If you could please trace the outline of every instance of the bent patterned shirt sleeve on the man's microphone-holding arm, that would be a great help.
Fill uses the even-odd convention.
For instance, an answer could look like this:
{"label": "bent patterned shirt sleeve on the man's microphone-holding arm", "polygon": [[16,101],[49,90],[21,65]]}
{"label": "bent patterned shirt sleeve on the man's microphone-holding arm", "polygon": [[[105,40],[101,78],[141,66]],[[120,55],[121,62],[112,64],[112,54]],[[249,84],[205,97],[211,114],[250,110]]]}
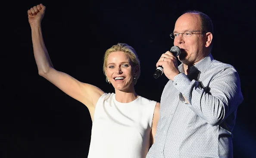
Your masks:
{"label": "bent patterned shirt sleeve on the man's microphone-holding arm", "polygon": [[173,84],[189,101],[186,105],[211,125],[219,125],[243,101],[234,67],[213,75],[205,87],[200,87],[200,82],[194,79],[190,81],[184,73],[175,76]]}

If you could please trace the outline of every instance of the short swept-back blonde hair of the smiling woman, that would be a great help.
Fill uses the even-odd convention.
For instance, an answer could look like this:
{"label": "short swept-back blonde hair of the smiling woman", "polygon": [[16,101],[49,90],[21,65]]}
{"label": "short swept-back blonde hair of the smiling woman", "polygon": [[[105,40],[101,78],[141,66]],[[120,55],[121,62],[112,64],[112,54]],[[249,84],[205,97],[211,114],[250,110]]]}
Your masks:
{"label": "short swept-back blonde hair of the smiling woman", "polygon": [[[117,43],[117,45],[114,45],[111,48],[107,49],[104,54],[104,60],[103,60],[103,73],[105,74],[105,76],[106,76],[107,59],[112,52],[127,53],[131,60],[132,68],[134,68],[136,65],[138,65],[139,70],[138,70],[137,74],[134,76],[136,79],[134,79],[134,82],[133,82],[135,85],[137,83],[137,79],[139,79],[139,77],[140,77],[140,60],[137,56],[136,51],[126,43]],[[106,82],[108,82],[107,76],[106,76]]]}

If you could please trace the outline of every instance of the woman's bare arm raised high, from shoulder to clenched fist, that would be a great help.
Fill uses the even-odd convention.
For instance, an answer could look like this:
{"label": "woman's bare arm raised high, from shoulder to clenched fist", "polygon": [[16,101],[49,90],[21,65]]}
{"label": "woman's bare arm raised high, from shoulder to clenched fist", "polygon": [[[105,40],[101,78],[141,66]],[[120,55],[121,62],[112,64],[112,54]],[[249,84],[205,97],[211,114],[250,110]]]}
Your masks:
{"label": "woman's bare arm raised high, from shoulder to clenched fist", "polygon": [[53,68],[53,64],[44,45],[41,30],[41,21],[44,17],[45,9],[46,6],[40,4],[28,10],[28,22],[31,26],[34,58],[38,73],[69,96],[84,103],[93,118],[97,100],[104,92],[94,85],[79,82],[72,76]]}

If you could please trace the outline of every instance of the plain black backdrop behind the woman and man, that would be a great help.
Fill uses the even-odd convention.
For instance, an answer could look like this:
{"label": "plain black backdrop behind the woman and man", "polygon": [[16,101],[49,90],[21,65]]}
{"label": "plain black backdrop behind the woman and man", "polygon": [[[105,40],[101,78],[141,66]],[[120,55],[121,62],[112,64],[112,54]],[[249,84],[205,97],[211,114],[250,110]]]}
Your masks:
{"label": "plain black backdrop behind the woman and man", "polygon": [[[168,79],[153,78],[156,62],[173,46],[178,16],[199,10],[212,18],[216,60],[240,74],[244,102],[237,110],[234,157],[256,157],[255,3],[243,1],[6,1],[2,13],[1,145],[3,158],[85,158],[91,118],[82,103],[37,73],[27,10],[47,6],[44,41],[54,67],[81,82],[113,92],[103,75],[103,54],[118,42],[133,46],[141,62],[139,95],[160,101]],[[100,151],[99,151],[100,152]]]}

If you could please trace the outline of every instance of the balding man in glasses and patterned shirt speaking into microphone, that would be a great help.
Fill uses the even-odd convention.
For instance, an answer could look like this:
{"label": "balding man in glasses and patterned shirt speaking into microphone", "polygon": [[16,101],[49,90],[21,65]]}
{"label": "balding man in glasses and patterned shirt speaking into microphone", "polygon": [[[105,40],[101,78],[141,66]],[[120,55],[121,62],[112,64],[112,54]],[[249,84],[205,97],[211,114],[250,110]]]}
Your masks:
{"label": "balding man in glasses and patterned shirt speaking into microphone", "polygon": [[202,12],[181,15],[170,35],[181,48],[177,60],[162,54],[170,79],[161,97],[155,143],[147,158],[232,158],[232,130],[244,100],[235,68],[211,55],[213,27]]}

